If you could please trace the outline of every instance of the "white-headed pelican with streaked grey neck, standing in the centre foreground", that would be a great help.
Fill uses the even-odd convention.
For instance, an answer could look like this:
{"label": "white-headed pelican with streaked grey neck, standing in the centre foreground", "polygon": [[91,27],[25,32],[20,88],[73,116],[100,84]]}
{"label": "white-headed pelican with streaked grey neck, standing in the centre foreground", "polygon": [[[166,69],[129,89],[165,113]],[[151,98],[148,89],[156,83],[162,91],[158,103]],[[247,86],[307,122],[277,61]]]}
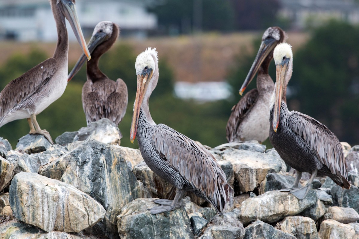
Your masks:
{"label": "white-headed pelican with streaked grey neck, standing in the centre foreground", "polygon": [[219,215],[226,205],[224,172],[211,153],[192,139],[164,124],[155,124],[148,99],[158,81],[158,57],[148,48],[136,59],[137,92],[132,116],[130,139],[136,132],[139,148],[146,164],[160,177],[176,187],[174,200],[156,200],[162,204],[150,209],[152,214],[171,211],[186,191],[194,192],[210,202]]}

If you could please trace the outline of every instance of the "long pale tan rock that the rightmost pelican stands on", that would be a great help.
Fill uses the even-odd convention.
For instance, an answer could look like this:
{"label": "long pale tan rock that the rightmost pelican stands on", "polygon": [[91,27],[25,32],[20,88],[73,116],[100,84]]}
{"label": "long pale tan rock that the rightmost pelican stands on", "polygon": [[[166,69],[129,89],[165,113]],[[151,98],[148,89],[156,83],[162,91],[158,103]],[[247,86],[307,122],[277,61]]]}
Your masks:
{"label": "long pale tan rock that the rightmost pelican stands on", "polygon": [[304,199],[299,200],[288,192],[269,191],[260,196],[242,202],[239,219],[244,225],[251,221],[261,220],[274,223],[286,216],[294,216],[318,201],[314,190],[309,190]]}

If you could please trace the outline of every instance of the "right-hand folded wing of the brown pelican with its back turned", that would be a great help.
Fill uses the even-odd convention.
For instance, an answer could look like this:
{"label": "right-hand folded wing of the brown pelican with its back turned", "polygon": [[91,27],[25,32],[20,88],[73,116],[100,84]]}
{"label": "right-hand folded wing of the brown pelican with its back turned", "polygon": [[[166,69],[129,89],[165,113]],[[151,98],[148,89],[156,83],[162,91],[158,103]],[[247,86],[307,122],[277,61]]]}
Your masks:
{"label": "right-hand folded wing of the brown pelican with its back turned", "polygon": [[116,125],[120,124],[126,113],[128,98],[126,83],[117,79],[116,91],[111,92],[105,102],[106,118]]}

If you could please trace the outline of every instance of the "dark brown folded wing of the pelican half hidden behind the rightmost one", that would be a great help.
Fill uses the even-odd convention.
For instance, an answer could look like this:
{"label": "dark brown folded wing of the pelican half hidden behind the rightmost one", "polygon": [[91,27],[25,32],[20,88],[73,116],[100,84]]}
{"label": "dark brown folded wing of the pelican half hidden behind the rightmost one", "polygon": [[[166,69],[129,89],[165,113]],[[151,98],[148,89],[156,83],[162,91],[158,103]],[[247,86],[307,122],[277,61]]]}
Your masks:
{"label": "dark brown folded wing of the pelican half hidden behind the rightmost one", "polygon": [[252,89],[239,100],[237,105],[232,107],[232,113],[229,116],[226,127],[228,142],[238,138],[238,126],[242,123],[243,119],[246,118],[247,113],[252,109],[253,105],[256,104],[257,100],[258,90]]}

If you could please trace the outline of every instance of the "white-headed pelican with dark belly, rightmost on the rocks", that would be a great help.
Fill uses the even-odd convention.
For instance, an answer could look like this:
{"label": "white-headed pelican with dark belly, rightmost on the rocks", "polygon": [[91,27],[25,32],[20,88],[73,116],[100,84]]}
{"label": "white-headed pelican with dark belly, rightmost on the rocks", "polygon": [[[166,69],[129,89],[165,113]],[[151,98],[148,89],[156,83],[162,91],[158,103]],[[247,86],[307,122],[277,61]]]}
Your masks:
{"label": "white-headed pelican with dark belly, rightmost on the rocks", "polygon": [[305,187],[283,191],[303,199],[317,175],[329,176],[337,185],[349,188],[344,154],[335,134],[312,117],[288,110],[286,87],[293,70],[291,46],[287,43],[276,46],[274,61],[277,77],[270,102],[270,142],[280,157],[297,170],[293,187],[298,187],[302,172],[312,174]]}

